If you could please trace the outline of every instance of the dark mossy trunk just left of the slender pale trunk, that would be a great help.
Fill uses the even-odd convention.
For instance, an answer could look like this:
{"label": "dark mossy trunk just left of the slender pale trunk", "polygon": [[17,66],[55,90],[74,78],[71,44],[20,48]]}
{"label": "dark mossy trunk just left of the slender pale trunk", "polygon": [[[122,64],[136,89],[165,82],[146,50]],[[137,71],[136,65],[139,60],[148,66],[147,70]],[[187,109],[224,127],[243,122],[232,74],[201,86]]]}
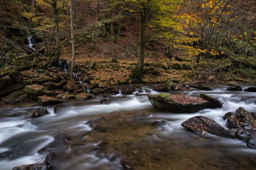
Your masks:
{"label": "dark mossy trunk just left of the slender pale trunk", "polygon": [[[60,45],[60,40],[59,40],[59,26],[58,26],[58,8],[57,8],[57,1],[55,1],[55,3],[52,4],[53,6],[53,15],[54,15],[54,34],[55,34],[55,44],[56,47],[58,47]],[[58,50],[55,53],[55,57],[53,59],[52,64],[53,65],[57,65],[58,64],[58,60],[59,60],[59,56],[60,56],[60,48],[58,48]]]}

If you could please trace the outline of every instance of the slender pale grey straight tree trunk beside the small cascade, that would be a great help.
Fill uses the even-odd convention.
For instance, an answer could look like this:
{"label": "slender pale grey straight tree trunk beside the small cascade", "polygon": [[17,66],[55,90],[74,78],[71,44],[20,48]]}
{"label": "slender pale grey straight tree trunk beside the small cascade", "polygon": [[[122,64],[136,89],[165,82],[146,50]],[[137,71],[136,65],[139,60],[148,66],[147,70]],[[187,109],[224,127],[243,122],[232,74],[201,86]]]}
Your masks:
{"label": "slender pale grey straight tree trunk beside the small cascade", "polygon": [[[70,30],[71,30],[71,39],[74,39],[72,1],[73,0],[70,0]],[[74,68],[75,68],[75,58],[76,58],[75,40],[71,40],[71,45],[72,45],[72,62],[71,62],[71,65],[70,65],[69,77],[73,78],[73,71],[74,71]]]}

